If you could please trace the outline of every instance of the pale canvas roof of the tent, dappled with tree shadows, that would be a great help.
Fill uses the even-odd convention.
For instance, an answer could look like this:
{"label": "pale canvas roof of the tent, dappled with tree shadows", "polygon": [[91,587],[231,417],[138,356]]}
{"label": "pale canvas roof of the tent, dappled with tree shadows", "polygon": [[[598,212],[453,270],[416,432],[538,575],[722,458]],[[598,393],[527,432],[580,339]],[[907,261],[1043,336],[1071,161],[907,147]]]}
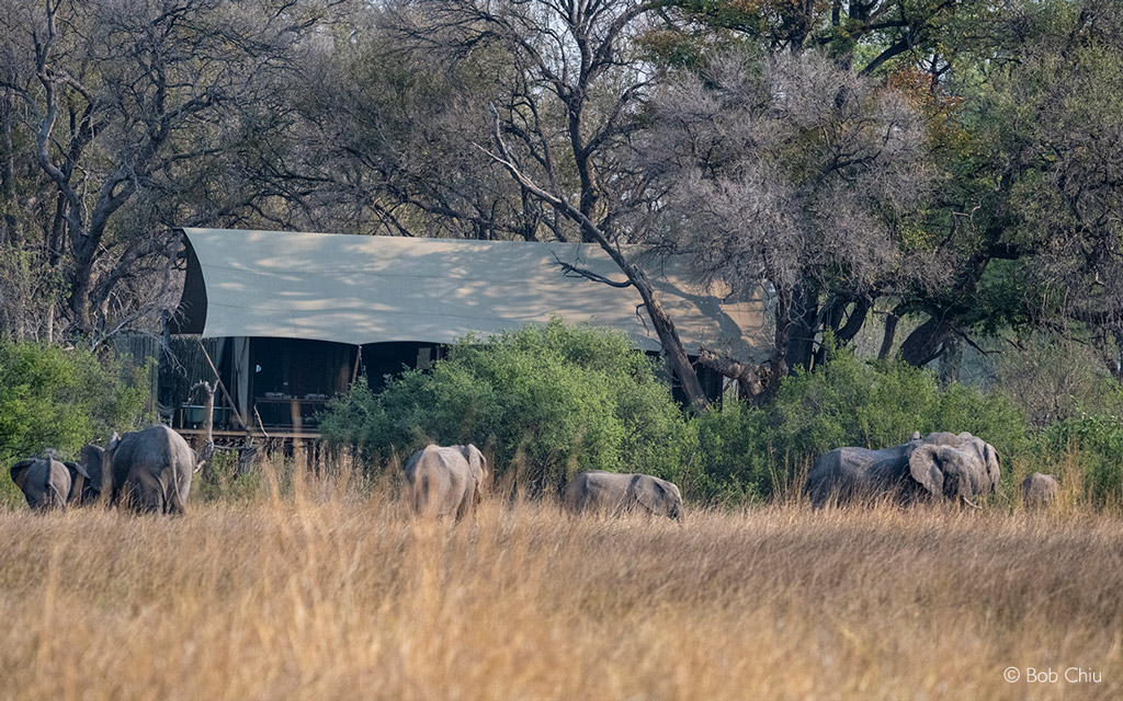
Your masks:
{"label": "pale canvas roof of the tent, dappled with tree shadows", "polygon": [[[560,315],[622,330],[646,350],[660,348],[634,288],[566,277],[557,266],[564,260],[623,280],[588,243],[184,232],[190,246],[174,329],[180,333],[447,343]],[[687,352],[705,344],[746,357],[763,348],[760,299],[705,294],[675,262],[651,259],[645,269]]]}

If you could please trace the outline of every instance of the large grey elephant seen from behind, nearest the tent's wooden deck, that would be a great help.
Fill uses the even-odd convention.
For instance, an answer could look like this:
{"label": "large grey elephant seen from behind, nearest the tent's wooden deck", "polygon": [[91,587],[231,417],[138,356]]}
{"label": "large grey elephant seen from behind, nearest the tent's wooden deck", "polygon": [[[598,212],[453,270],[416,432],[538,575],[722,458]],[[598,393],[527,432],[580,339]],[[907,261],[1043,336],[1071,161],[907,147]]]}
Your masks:
{"label": "large grey elephant seen from behind, nearest the tent's wooden deck", "polygon": [[191,476],[204,463],[183,436],[156,425],[110,439],[101,469],[111,474],[111,505],[124,498],[138,513],[179,515],[184,513]]}

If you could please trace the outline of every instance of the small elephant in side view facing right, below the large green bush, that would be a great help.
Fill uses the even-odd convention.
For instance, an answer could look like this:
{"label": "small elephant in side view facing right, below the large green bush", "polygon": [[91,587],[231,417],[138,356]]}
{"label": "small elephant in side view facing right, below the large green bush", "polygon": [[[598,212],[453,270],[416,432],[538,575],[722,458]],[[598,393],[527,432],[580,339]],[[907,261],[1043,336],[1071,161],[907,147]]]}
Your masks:
{"label": "small elephant in side view facing right, below the large green bush", "polygon": [[650,474],[582,472],[569,480],[563,504],[573,514],[638,511],[683,520],[678,487]]}

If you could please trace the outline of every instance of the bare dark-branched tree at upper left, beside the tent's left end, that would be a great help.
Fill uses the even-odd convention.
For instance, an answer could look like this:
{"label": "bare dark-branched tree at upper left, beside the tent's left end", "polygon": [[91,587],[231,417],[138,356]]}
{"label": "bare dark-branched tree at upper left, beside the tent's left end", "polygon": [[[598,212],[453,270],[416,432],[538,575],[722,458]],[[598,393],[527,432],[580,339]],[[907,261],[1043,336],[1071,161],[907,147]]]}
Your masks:
{"label": "bare dark-branched tree at upper left, beside the tent's left end", "polygon": [[103,335],[153,306],[174,227],[270,194],[238,182],[238,163],[247,137],[279,128],[274,79],[319,4],[4,2],[0,89],[46,184],[39,251],[67,282],[71,332]]}

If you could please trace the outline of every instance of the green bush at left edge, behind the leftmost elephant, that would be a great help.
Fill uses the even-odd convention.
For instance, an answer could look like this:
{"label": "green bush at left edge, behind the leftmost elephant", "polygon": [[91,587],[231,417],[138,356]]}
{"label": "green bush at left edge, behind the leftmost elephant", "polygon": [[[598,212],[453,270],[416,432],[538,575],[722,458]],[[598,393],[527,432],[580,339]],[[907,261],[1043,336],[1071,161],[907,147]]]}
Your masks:
{"label": "green bush at left edge, behind the leftmost elephant", "polygon": [[[144,372],[122,380],[119,362],[88,350],[0,341],[0,464],[46,448],[73,454],[141,423]],[[8,470],[0,472],[0,499],[20,500]]]}

